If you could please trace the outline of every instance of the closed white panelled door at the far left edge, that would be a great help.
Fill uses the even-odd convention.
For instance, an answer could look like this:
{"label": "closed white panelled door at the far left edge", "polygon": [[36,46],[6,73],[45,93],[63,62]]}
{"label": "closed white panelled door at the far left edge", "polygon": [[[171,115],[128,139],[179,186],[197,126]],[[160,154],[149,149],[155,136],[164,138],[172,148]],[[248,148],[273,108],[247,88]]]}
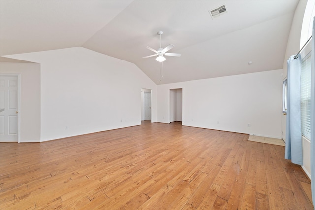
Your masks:
{"label": "closed white panelled door at the far left edge", "polygon": [[18,76],[0,78],[0,141],[18,141]]}

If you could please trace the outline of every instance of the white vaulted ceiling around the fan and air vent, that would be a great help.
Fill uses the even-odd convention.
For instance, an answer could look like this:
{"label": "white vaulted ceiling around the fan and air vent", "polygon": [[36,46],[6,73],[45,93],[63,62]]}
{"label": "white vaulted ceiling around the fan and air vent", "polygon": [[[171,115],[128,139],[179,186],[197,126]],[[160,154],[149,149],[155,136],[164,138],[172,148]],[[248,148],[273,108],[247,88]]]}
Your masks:
{"label": "white vaulted ceiling around the fan and air vent", "polygon": [[[212,19],[209,10],[225,4]],[[85,47],[137,65],[156,84],[283,67],[298,0],[1,0],[5,57]],[[174,44],[161,63],[146,46]],[[252,61],[249,65],[248,62]],[[163,68],[162,68],[163,67]],[[163,75],[163,77],[161,77]]]}

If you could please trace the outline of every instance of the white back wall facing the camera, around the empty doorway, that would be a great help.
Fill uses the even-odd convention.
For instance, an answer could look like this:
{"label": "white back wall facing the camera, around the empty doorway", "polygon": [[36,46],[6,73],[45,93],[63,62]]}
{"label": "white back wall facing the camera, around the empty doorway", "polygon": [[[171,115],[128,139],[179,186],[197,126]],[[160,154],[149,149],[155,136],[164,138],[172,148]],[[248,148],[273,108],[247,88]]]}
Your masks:
{"label": "white back wall facing the camera, around the empty doorway", "polygon": [[158,85],[158,122],[170,122],[169,90],[183,88],[183,125],[281,138],[282,71]]}

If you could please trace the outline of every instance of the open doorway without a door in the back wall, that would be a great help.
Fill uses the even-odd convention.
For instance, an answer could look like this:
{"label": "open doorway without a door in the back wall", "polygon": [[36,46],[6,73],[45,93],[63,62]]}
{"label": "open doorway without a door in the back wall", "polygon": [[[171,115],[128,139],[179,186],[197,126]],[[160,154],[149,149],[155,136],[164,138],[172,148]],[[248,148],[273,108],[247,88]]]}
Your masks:
{"label": "open doorway without a door in the back wall", "polygon": [[183,89],[170,89],[170,123],[182,122],[183,115]]}

